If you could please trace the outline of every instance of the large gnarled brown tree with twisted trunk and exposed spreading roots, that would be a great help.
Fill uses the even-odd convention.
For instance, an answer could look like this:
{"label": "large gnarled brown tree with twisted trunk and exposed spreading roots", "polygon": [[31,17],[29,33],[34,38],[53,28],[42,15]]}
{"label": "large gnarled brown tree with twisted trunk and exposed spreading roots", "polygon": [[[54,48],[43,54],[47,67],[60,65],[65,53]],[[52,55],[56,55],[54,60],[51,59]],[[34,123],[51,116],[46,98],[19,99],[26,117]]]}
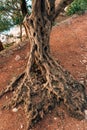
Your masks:
{"label": "large gnarled brown tree with twisted trunk and exposed spreading roots", "polygon": [[0,93],[2,97],[14,91],[11,101],[3,108],[14,108],[23,103],[27,128],[61,101],[71,115],[84,118],[87,107],[85,87],[62,68],[50,52],[50,32],[55,14],[61,12],[67,1],[60,1],[56,13],[55,0],[32,0],[32,13],[24,20],[31,45],[27,67]]}

